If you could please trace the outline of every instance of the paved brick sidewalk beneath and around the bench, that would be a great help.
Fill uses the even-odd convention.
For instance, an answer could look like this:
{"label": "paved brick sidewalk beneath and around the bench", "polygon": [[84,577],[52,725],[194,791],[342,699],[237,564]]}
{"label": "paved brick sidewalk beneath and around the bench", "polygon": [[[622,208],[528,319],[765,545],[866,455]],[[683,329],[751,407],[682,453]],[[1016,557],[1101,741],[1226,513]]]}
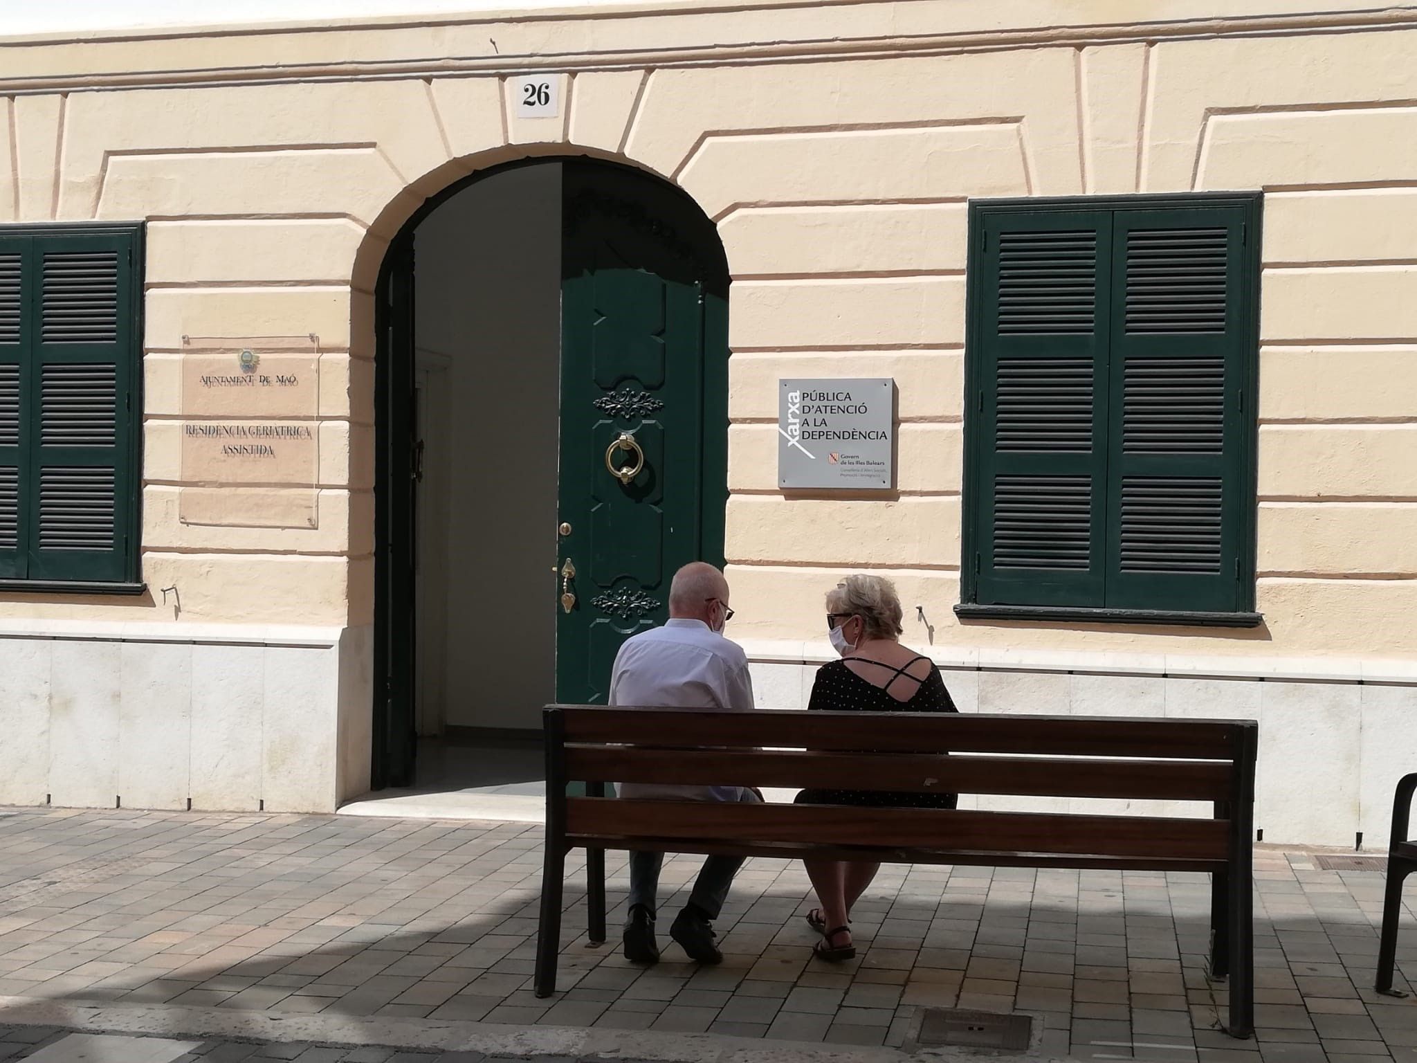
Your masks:
{"label": "paved brick sidewalk beneath and around the bench", "polygon": [[[859,958],[829,968],[809,958],[801,866],[751,860],[717,924],[723,967],[689,964],[662,933],[665,961],[640,969],[615,934],[588,947],[572,867],[561,992],[541,1001],[540,842],[526,823],[14,809],[0,996],[863,1046],[898,1046],[917,1008],[958,1005],[1041,1016],[1050,1056],[1417,1063],[1417,999],[1370,989],[1383,877],[1305,853],[1257,855],[1258,1036],[1237,1042],[1202,969],[1199,874],[887,866],[859,906]],[[606,862],[616,927],[623,856]],[[663,889],[696,869],[667,862]],[[1401,961],[1417,975],[1411,906]]]}

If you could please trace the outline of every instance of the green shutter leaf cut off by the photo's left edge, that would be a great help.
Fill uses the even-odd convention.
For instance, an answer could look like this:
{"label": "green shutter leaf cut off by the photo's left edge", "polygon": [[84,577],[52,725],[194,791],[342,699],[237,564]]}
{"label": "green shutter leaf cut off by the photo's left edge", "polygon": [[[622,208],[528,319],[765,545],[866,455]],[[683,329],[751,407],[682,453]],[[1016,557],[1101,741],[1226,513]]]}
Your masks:
{"label": "green shutter leaf cut off by the photo's left edge", "polygon": [[24,575],[20,479],[24,469],[21,370],[28,240],[0,237],[0,580]]}

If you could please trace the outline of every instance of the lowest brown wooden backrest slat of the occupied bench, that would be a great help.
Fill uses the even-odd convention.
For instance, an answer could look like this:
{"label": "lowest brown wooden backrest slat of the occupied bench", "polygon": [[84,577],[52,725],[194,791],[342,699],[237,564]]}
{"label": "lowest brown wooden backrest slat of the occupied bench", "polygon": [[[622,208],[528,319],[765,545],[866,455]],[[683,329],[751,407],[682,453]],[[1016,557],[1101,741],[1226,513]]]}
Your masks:
{"label": "lowest brown wooden backrest slat of the occupied bench", "polygon": [[565,802],[565,833],[575,839],[683,838],[744,845],[830,839],[833,845],[847,846],[1223,860],[1229,826],[1221,819],[1049,812],[622,798],[568,798]]}

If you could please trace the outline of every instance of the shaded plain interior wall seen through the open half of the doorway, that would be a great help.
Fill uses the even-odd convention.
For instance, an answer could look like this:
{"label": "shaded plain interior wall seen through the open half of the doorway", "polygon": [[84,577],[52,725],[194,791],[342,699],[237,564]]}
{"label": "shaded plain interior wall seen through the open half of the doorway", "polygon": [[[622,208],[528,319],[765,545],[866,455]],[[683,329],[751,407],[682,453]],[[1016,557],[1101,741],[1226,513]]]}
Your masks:
{"label": "shaded plain interior wall seen through the open half of the doorway", "polygon": [[561,166],[492,173],[414,234],[418,727],[540,730],[555,700]]}

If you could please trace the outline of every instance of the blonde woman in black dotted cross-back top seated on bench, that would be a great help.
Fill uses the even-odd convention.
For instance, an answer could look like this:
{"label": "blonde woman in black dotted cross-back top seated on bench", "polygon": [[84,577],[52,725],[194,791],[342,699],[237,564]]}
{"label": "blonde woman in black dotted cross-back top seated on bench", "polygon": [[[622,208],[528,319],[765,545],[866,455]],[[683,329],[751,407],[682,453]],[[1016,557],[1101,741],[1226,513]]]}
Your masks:
{"label": "blonde woman in black dotted cross-back top seated on bench", "polygon": [[[826,626],[840,660],[822,665],[808,709],[863,713],[954,713],[945,680],[930,658],[900,645],[900,598],[890,580],[849,575],[826,595]],[[883,723],[883,726],[890,726]],[[954,808],[955,794],[803,789],[798,804],[877,808]],[[806,921],[822,934],[813,954],[829,962],[856,955],[852,904],[871,884],[879,863],[806,860],[819,909]]]}

